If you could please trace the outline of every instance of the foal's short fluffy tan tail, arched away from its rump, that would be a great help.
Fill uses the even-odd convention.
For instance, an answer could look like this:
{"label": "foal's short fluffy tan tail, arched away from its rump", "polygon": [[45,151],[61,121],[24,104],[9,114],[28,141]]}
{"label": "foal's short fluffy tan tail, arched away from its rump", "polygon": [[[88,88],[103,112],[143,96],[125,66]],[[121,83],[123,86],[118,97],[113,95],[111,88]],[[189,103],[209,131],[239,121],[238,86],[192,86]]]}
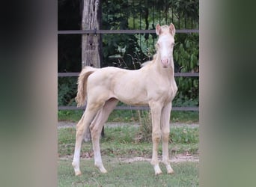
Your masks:
{"label": "foal's short fluffy tan tail, arched away from its rump", "polygon": [[76,94],[76,103],[77,106],[82,106],[85,105],[85,99],[87,96],[87,79],[88,76],[91,75],[91,73],[94,73],[97,69],[93,67],[85,67],[81,73],[79,74],[79,79],[78,79],[78,87],[77,87],[77,94]]}

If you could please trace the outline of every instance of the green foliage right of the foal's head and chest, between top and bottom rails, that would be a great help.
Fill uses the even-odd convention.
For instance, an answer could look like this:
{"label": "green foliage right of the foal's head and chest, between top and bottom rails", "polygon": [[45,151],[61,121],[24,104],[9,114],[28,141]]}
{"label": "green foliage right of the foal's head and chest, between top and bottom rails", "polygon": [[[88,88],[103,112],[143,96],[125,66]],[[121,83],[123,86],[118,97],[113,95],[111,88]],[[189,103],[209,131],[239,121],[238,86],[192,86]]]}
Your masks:
{"label": "green foliage right of the foal's head and chest, between top and bottom rails", "polygon": [[[198,34],[180,34],[174,47],[174,63],[180,72],[199,72],[199,36]],[[198,77],[177,77],[177,96],[174,106],[199,105]]]}

